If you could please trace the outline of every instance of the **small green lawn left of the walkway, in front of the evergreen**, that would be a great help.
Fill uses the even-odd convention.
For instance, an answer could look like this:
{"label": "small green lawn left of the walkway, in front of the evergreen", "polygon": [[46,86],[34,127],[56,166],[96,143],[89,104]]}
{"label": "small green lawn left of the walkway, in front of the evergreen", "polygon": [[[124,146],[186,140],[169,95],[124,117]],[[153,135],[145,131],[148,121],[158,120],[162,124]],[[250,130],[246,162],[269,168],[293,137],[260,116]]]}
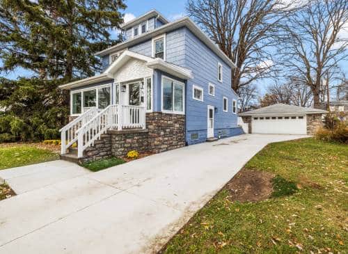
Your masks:
{"label": "small green lawn left of the walkway, in front of the evergreen", "polygon": [[0,147],[0,170],[14,168],[29,164],[37,164],[44,161],[59,159],[55,152],[35,148],[32,145],[15,145]]}

